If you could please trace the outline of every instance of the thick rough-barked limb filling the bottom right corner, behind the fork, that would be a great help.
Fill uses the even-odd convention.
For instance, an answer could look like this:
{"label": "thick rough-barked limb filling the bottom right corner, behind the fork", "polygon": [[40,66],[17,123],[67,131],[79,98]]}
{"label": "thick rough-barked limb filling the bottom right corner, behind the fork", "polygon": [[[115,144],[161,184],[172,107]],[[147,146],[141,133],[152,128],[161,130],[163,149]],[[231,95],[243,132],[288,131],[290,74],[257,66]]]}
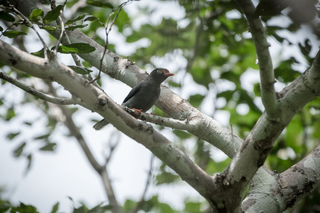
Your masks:
{"label": "thick rough-barked limb filling the bottom right corner, behind the fork", "polygon": [[[320,145],[288,170],[255,175],[242,203],[244,212],[283,212],[309,194],[320,182]],[[257,184],[258,183],[258,184]],[[259,184],[260,183],[260,184]],[[263,184],[264,187],[261,187]]]}

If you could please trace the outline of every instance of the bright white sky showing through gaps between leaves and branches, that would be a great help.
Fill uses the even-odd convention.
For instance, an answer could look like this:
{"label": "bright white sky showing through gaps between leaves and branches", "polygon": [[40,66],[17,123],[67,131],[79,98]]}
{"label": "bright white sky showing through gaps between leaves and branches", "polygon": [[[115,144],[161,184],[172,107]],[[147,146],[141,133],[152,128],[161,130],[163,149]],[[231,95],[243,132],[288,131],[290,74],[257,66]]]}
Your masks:
{"label": "bright white sky showing through gaps between leaves and branches", "polygon": [[[155,10],[152,14],[152,19],[146,15],[141,15],[138,12],[138,7],[149,6],[150,10]],[[158,24],[162,17],[177,19],[180,25],[185,25],[188,20],[183,19],[185,11],[174,1],[158,1],[158,0],[141,0],[132,1],[131,4],[126,5],[124,10],[131,16],[136,17],[133,22],[133,28],[137,29],[145,22],[152,21],[153,24]],[[121,14],[120,14],[121,15]],[[230,18],[236,18],[236,12],[230,13]],[[234,16],[234,17],[233,17]],[[276,21],[276,20],[275,20]],[[300,42],[304,42],[303,32],[306,28],[301,30],[301,36],[296,37]],[[308,29],[307,29],[308,30]],[[46,42],[49,41],[47,34],[40,30]],[[285,36],[285,32],[282,33]],[[5,42],[11,42],[9,39],[1,37]],[[42,48],[41,43],[38,41],[35,34],[31,31],[27,37],[27,49],[30,52],[35,52]],[[149,45],[148,39],[141,39],[134,44],[128,45],[125,43],[125,38],[116,32],[116,27],[109,35],[110,43],[116,45],[116,51],[121,55],[130,55],[137,47]],[[316,38],[310,38],[312,42],[316,42]],[[279,54],[285,57],[290,57],[292,53],[297,52],[296,46],[284,47],[272,38],[269,38],[271,43],[270,52],[276,62],[276,57]],[[283,48],[283,49],[282,49]],[[316,50],[312,50],[315,54]],[[73,65],[74,62],[70,57],[59,54],[60,60],[67,64]],[[174,54],[168,53],[163,58],[152,57],[152,62],[158,67],[166,67],[171,72],[175,73],[175,81],[183,81],[188,87],[181,89],[172,88],[174,92],[181,97],[187,98],[189,95],[202,94],[206,95],[204,102],[201,104],[200,109],[204,113],[212,116],[213,104],[224,105],[225,100],[215,100],[216,89],[227,90],[234,87],[232,82],[227,80],[218,81],[217,85],[210,85],[209,91],[204,87],[194,83],[192,77],[184,72],[177,72],[181,67],[187,65],[187,60],[182,56],[181,50],[175,50]],[[299,58],[303,62],[303,58]],[[165,66],[164,66],[165,65]],[[148,67],[148,65],[147,65]],[[149,66],[150,67],[150,66]],[[300,71],[304,71],[306,64],[304,63],[299,67]],[[4,70],[5,71],[5,70]],[[147,70],[148,72],[151,71]],[[212,76],[216,73],[212,71]],[[250,76],[250,78],[248,78]],[[254,83],[259,82],[259,72],[257,70],[249,69],[241,77],[243,80],[243,87],[246,90],[252,91]],[[122,103],[123,98],[130,91],[130,87],[120,81],[109,78],[108,76],[102,77],[103,86],[107,94],[117,103]],[[164,83],[166,84],[166,83]],[[276,90],[280,91],[284,87],[281,83],[276,83]],[[117,89],[115,89],[117,88]],[[196,88],[196,90],[194,89]],[[59,95],[67,94],[63,89],[59,89]],[[0,85],[0,94],[5,96],[5,106],[15,105],[19,103],[23,97],[24,92],[19,88],[6,83]],[[214,103],[215,102],[215,103]],[[257,98],[255,103],[263,109],[261,100]],[[241,105],[237,109],[241,113],[245,113],[247,106]],[[96,174],[92,166],[88,163],[86,157],[77,141],[72,137],[66,137],[68,134],[66,127],[59,124],[52,136],[52,142],[56,142],[58,147],[54,153],[44,153],[37,151],[41,147],[39,141],[32,141],[35,135],[42,135],[45,133],[46,115],[35,107],[32,103],[24,104],[22,106],[15,105],[16,117],[12,118],[10,122],[3,122],[0,120],[0,186],[5,186],[5,197],[10,198],[14,203],[19,201],[26,204],[33,204],[40,212],[49,212],[56,202],[60,202],[59,212],[69,212],[72,208],[72,203],[67,198],[70,196],[74,201],[84,201],[89,207],[93,207],[100,202],[106,201],[105,191],[103,189],[100,176]],[[5,114],[5,108],[0,106],[0,114]],[[224,126],[229,126],[229,113],[218,110],[215,113],[215,119]],[[94,156],[103,163],[104,150],[106,150],[106,142],[108,137],[113,131],[116,131],[112,125],[107,126],[103,131],[94,131],[92,129],[92,118],[100,119],[98,114],[93,114],[89,110],[79,109],[74,114],[74,121],[81,128],[84,138],[87,140]],[[26,126],[22,123],[24,121],[36,121],[33,126]],[[21,130],[14,141],[6,138],[8,133]],[[175,142],[178,139],[171,133],[171,129],[165,129],[163,133],[169,140]],[[28,141],[27,149],[33,153],[32,168],[27,175],[24,175],[27,161],[25,158],[15,158],[12,155],[14,148],[18,146],[21,141]],[[194,141],[185,141],[188,148],[194,147]],[[211,148],[211,155],[214,160],[221,161],[226,156],[217,148]],[[128,138],[126,135],[121,134],[121,142],[117,146],[115,153],[108,165],[108,172],[112,180],[115,190],[116,198],[121,205],[124,204],[126,199],[139,200],[144,189],[147,178],[149,162],[151,153],[148,149],[138,144],[136,141]],[[155,165],[159,165],[160,161],[156,160]],[[151,185],[147,198],[152,195],[158,194],[159,200],[166,202],[175,209],[183,209],[183,200],[186,197],[191,200],[203,200],[201,196],[185,182],[180,181],[178,185]]]}

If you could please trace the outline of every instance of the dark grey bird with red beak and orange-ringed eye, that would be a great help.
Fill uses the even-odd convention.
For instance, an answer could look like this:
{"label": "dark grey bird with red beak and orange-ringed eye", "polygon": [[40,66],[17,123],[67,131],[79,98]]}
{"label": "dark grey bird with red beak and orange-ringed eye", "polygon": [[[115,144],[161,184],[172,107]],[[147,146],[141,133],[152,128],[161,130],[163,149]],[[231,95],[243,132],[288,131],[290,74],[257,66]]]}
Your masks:
{"label": "dark grey bird with red beak and orange-ringed eye", "polygon": [[[148,111],[160,97],[161,83],[173,75],[172,72],[162,67],[154,69],[144,80],[131,89],[121,105],[139,111],[139,113]],[[101,130],[108,124],[108,121],[102,119],[93,128]]]}

